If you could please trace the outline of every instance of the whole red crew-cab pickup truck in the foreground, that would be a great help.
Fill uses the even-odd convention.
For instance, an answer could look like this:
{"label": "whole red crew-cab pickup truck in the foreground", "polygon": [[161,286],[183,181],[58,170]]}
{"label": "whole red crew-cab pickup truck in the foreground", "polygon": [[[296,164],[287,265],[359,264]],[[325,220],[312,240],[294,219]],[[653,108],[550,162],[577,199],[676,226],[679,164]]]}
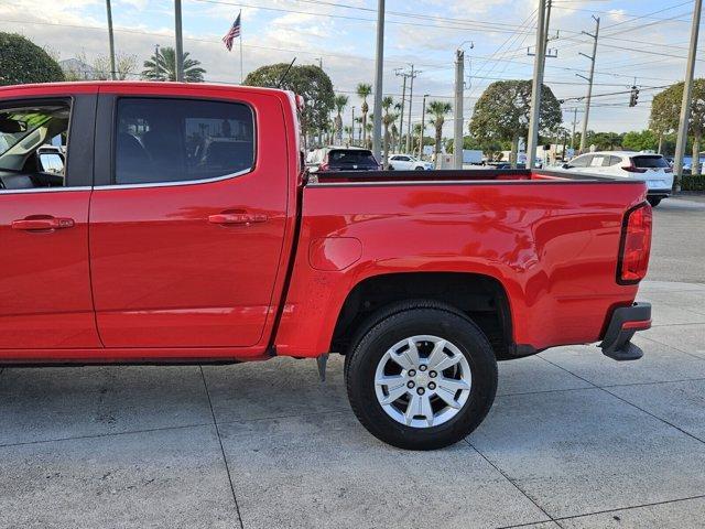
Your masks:
{"label": "whole red crew-cab pickup truck in the foreground", "polygon": [[0,363],[345,355],[352,410],[405,449],[487,414],[497,360],[650,326],[643,182],[303,169],[292,94],[0,89]]}

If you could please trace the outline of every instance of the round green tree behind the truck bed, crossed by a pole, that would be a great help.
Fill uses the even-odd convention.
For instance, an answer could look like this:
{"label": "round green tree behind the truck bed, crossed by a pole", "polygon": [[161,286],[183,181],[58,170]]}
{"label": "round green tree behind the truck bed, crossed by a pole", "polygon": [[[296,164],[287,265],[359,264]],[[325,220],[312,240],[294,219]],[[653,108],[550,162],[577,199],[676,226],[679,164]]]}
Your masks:
{"label": "round green tree behind the truck bed, crossed by a pole", "polygon": [[[517,166],[519,139],[529,136],[531,80],[497,80],[489,85],[475,104],[470,134],[481,144],[511,142],[510,161]],[[561,104],[547,86],[541,87],[539,133],[549,133],[563,121]],[[529,153],[534,155],[534,153]]]}

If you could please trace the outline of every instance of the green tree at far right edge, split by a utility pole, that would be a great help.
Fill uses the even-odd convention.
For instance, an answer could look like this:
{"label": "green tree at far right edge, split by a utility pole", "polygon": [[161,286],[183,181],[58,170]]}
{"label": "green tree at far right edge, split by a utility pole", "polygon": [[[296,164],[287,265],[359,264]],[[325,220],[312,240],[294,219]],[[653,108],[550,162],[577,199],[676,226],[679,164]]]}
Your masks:
{"label": "green tree at far right edge, split by a utility pole", "polygon": [[[660,138],[677,131],[681,119],[681,101],[683,100],[683,83],[671,85],[653,96],[649,128]],[[705,130],[705,79],[693,80],[691,99],[691,120],[688,132],[693,134],[693,162],[691,171],[699,173],[699,152],[703,131]]]}

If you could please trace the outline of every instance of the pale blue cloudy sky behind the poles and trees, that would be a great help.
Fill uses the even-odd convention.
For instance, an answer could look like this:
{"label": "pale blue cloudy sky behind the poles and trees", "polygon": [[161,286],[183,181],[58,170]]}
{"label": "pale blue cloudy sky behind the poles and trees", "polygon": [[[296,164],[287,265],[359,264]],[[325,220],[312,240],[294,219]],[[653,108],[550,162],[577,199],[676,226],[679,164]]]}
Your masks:
{"label": "pale blue cloudy sky behind the poles and trees", "polygon": [[[200,61],[207,82],[240,82],[239,42],[228,52],[220,41],[242,12],[245,75],[271,63],[323,64],[336,93],[350,96],[344,122],[361,101],[355,87],[372,84],[377,2],[375,0],[183,0],[184,50]],[[427,100],[453,102],[455,51],[465,50],[464,121],[482,90],[497,79],[529,79],[533,72],[538,0],[387,0],[383,93],[401,99],[402,77],[419,72],[411,118],[421,121]],[[553,0],[544,83],[563,104],[564,126],[582,128],[593,39],[600,19],[589,129],[625,132],[648,127],[650,100],[659,87],[682,80],[693,1]],[[156,44],[174,45],[172,0],[112,0],[118,53],[147,60]],[[2,0],[0,31],[21,33],[61,60],[108,54],[105,0]],[[702,41],[701,41],[702,42]],[[140,67],[141,69],[141,67]],[[705,75],[705,55],[695,75]],[[640,88],[628,107],[629,90]],[[406,104],[406,112],[408,106]],[[404,119],[404,121],[406,121]],[[444,133],[452,133],[448,120]],[[467,130],[467,128],[465,129]]]}

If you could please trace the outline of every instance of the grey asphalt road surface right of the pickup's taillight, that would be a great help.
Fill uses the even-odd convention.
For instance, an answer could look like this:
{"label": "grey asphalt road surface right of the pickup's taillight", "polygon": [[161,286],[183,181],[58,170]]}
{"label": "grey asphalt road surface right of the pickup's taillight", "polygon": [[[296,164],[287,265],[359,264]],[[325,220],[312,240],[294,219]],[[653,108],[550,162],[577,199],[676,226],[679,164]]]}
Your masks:
{"label": "grey asphalt road surface right of the pickup's taillight", "polygon": [[705,196],[668,198],[653,209],[647,279],[705,282]]}

